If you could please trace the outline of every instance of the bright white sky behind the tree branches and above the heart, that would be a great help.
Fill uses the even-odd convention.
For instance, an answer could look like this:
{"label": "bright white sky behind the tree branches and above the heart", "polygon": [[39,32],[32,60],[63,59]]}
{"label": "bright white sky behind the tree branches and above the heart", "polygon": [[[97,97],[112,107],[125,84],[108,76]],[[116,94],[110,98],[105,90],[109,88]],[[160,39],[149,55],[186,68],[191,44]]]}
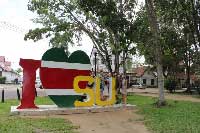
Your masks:
{"label": "bright white sky behind the tree branches and above the heart", "polygon": [[[7,61],[11,61],[14,70],[20,67],[20,58],[40,60],[43,53],[50,48],[46,39],[38,42],[24,41],[25,33],[38,27],[31,21],[36,14],[28,11],[28,1],[0,0],[0,56],[5,56]],[[5,26],[5,22],[9,26]],[[15,25],[17,30],[10,28],[12,25]],[[69,51],[72,53],[75,50],[83,50],[90,55],[93,47],[91,40],[84,36],[82,44],[70,47]]]}

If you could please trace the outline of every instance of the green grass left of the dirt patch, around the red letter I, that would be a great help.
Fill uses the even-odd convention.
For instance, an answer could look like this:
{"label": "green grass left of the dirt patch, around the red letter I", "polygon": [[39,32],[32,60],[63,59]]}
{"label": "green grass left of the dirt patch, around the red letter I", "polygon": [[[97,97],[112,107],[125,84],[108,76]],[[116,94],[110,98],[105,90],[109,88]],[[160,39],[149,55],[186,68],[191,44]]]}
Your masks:
{"label": "green grass left of the dirt patch, around the red letter I", "polygon": [[[11,116],[11,105],[18,105],[17,100],[0,103],[0,133],[73,133],[77,127],[61,118],[22,118]],[[37,97],[36,104],[53,104],[49,98]]]}

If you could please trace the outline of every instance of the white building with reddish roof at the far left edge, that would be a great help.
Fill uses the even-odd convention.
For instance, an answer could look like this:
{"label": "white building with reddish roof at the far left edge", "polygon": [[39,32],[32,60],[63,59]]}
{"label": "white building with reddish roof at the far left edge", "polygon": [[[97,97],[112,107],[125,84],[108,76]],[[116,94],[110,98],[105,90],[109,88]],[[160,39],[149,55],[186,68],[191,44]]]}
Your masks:
{"label": "white building with reddish roof at the far left edge", "polygon": [[14,83],[20,76],[11,68],[11,62],[5,60],[5,56],[0,56],[0,77],[6,77],[6,83]]}

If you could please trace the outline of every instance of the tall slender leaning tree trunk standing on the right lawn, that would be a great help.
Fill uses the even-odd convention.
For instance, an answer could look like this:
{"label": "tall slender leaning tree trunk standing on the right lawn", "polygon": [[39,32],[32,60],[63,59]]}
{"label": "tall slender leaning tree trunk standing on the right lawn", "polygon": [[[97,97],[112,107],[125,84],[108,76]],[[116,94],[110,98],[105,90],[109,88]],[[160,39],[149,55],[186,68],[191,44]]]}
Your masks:
{"label": "tall slender leaning tree trunk standing on the right lawn", "polygon": [[154,45],[155,47],[155,58],[157,66],[157,76],[158,76],[158,88],[159,88],[159,99],[158,106],[165,105],[164,97],[164,76],[163,76],[163,66],[162,66],[162,48],[159,44],[159,27],[156,17],[156,12],[153,5],[153,0],[145,0],[147,16],[150,23],[150,28],[154,36]]}

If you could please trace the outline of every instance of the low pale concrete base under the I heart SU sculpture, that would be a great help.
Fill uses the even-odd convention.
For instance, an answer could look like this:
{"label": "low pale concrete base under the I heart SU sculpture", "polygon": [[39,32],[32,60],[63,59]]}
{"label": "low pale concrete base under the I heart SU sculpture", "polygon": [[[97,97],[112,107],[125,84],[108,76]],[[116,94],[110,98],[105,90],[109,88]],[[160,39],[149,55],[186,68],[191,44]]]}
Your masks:
{"label": "low pale concrete base under the I heart SU sculpture", "polygon": [[[126,105],[127,110],[134,109],[136,105]],[[76,108],[59,108],[56,105],[39,105],[39,109],[17,109],[17,106],[11,106],[12,115],[35,116],[35,115],[69,115],[113,112],[124,109],[124,105],[116,104],[113,106],[93,106],[93,107],[76,107]]]}

